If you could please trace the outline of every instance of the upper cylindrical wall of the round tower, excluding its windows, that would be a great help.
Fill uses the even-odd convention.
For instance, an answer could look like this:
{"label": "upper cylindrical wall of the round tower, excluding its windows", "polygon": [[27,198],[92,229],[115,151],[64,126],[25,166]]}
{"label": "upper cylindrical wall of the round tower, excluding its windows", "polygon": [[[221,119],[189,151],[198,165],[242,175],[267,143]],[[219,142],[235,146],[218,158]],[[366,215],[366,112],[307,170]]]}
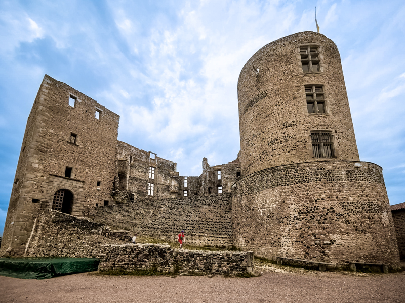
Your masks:
{"label": "upper cylindrical wall of the round tower, excluding its windows", "polygon": [[[300,46],[317,47],[318,62],[313,62],[319,72],[303,72]],[[305,86],[311,84],[323,86],[326,113],[308,113]],[[240,72],[238,105],[244,176],[319,161],[312,153],[314,130],[331,132],[334,156],[329,160],[359,160],[339,51],[321,34],[297,33],[256,52]]]}

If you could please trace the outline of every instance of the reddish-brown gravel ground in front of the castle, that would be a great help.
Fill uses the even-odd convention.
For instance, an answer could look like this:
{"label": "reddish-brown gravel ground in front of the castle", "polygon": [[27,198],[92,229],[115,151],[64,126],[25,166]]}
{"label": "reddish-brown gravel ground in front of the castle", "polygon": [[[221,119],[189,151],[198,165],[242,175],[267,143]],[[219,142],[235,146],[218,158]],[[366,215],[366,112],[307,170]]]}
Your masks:
{"label": "reddish-brown gravel ground in front of the castle", "polygon": [[308,271],[255,262],[263,275],[106,276],[47,280],[0,276],[0,302],[405,302],[405,272],[364,274]]}

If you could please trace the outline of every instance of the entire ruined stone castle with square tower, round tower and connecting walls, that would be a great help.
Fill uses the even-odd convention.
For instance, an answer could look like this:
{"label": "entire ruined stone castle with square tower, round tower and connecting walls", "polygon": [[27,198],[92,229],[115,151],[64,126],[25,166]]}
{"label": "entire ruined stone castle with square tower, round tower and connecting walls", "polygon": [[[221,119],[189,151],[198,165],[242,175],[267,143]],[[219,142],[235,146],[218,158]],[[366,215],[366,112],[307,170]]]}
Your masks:
{"label": "entire ruined stone castle with square tower, round tower and connecting walls", "polygon": [[[45,76],[29,115],[2,251],[19,255],[41,208],[255,255],[398,267],[382,168],[359,160],[340,55],[322,34],[265,45],[237,84],[240,153],[200,176],[117,141],[119,117]],[[230,160],[235,157],[230,155]],[[179,212],[181,216],[179,216]],[[61,228],[63,230],[63,228]]]}

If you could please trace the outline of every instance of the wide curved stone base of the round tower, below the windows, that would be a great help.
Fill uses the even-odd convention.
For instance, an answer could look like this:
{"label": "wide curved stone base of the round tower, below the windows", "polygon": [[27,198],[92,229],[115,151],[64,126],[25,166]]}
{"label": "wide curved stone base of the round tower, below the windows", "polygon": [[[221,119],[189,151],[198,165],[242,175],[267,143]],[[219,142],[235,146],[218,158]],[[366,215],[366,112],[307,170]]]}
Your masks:
{"label": "wide curved stone base of the round tower, below the windows", "polygon": [[259,171],[232,189],[234,242],[267,258],[399,266],[381,167],[352,161]]}

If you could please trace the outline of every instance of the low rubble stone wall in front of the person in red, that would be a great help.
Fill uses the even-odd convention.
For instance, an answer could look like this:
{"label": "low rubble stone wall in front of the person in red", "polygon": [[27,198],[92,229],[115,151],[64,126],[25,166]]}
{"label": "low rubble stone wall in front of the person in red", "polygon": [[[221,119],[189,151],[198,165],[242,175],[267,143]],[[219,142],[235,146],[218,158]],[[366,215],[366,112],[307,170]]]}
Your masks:
{"label": "low rubble stone wall in front of the person in red", "polygon": [[244,275],[254,273],[253,252],[172,249],[157,244],[106,244],[99,271],[140,274]]}

